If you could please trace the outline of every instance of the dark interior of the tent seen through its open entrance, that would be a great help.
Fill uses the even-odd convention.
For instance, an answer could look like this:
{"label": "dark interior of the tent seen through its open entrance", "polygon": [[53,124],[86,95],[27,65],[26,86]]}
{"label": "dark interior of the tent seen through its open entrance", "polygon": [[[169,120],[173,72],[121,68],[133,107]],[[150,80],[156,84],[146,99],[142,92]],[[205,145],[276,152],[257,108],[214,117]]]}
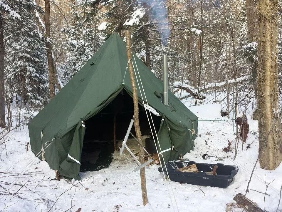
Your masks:
{"label": "dark interior of the tent seen through its open entrance", "polygon": [[[98,114],[85,121],[86,129],[81,154],[80,171],[96,171],[110,165],[114,152],[114,122],[116,140],[123,140],[132,116],[133,98],[125,90],[122,90],[109,105],[103,108]],[[152,118],[156,131],[158,132],[162,117],[152,114]],[[146,111],[140,104],[139,124],[142,135],[151,135],[151,138],[146,139],[146,148],[150,148],[149,153],[154,152],[155,144],[153,142]],[[131,132],[135,135],[134,125],[132,126]],[[132,135],[130,135],[129,138],[133,138]]]}

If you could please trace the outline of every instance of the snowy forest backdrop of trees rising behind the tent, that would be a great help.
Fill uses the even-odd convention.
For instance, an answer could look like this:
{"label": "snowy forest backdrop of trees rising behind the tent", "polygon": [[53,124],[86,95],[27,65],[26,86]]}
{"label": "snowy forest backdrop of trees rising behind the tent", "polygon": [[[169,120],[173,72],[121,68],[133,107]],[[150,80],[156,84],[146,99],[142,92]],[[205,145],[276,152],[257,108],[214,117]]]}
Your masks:
{"label": "snowy forest backdrop of trees rising behind the tent", "polygon": [[[256,1],[251,0],[50,1],[49,36],[44,1],[1,1],[5,101],[40,108],[50,100],[46,43],[52,48],[50,63],[54,64],[58,92],[113,32],[124,37],[129,22],[133,52],[160,79],[161,56],[169,56],[170,86],[185,82],[201,90],[207,84],[247,77],[244,81],[254,87],[258,56],[255,7]],[[279,10],[278,15],[279,63]]]}

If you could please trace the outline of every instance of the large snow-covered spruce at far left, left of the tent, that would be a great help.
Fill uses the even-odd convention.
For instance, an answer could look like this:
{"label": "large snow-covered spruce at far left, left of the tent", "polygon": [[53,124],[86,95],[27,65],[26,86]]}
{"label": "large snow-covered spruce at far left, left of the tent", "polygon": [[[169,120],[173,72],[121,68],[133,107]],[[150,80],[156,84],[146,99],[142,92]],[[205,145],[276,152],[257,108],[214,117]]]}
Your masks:
{"label": "large snow-covered spruce at far left, left of the tent", "polygon": [[47,59],[44,37],[35,20],[33,0],[9,1],[20,19],[5,25],[5,74],[9,100],[20,97],[24,104],[40,107],[48,99]]}

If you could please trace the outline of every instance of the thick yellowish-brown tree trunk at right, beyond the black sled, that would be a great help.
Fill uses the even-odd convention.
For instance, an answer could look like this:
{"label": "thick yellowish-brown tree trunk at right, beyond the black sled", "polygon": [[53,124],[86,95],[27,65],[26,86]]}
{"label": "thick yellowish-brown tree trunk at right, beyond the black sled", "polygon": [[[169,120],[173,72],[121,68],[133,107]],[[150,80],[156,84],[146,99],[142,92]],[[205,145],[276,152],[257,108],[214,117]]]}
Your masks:
{"label": "thick yellowish-brown tree trunk at right, beyond the black sled", "polygon": [[279,111],[277,66],[277,0],[259,0],[259,63],[257,100],[259,109],[259,163],[273,170],[282,160],[282,127]]}

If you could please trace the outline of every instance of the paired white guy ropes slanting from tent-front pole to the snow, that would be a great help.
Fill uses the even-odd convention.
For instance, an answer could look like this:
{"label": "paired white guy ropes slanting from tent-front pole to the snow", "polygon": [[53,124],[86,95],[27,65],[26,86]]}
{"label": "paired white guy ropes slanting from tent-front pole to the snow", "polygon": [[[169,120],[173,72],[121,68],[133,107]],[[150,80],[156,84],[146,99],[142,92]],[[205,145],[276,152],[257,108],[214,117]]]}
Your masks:
{"label": "paired white guy ropes slanting from tent-front pole to the snow", "polygon": [[[145,94],[145,90],[144,90],[144,87],[143,87],[143,83],[142,83],[142,80],[141,80],[141,77],[140,77],[140,73],[139,73],[139,70],[138,70],[138,67],[137,67],[137,63],[136,63],[134,54],[133,54],[133,58],[134,58],[134,61],[135,61],[135,66],[136,66],[137,73],[138,73],[138,76],[139,76],[139,79],[140,79],[140,84],[141,84],[141,87],[142,87],[142,91],[143,91],[143,93],[144,93],[145,100],[146,100],[146,102],[147,102],[147,105],[149,105],[149,103],[148,103],[148,101],[147,101],[147,97],[146,97],[146,94]],[[132,62],[132,65],[133,65],[133,62]],[[142,95],[142,92],[141,92],[139,80],[138,80],[138,77],[137,77],[137,74],[136,74],[134,65],[133,65],[133,69],[134,69],[134,73],[135,73],[135,76],[136,76],[137,84],[138,84],[138,87],[139,87],[139,90],[140,90],[142,102],[143,102],[143,104],[145,104],[144,98],[143,98],[143,95]],[[149,122],[150,130],[151,130],[151,132],[153,132],[146,107],[145,107],[145,112],[146,112],[147,119],[148,119],[148,122]],[[159,138],[158,138],[158,136],[157,136],[157,130],[156,130],[156,128],[155,128],[155,124],[154,124],[154,121],[153,121],[152,114],[151,114],[151,111],[150,111],[150,110],[149,110],[149,114],[150,114],[150,117],[151,117],[151,120],[152,120],[152,125],[153,125],[154,131],[155,131],[155,135],[156,135],[157,142],[158,142],[158,145],[159,145],[159,148],[160,148],[160,152],[162,152],[162,149],[161,149],[161,146],[160,146],[160,141],[159,141]],[[155,141],[154,136],[153,136],[153,140],[154,140],[154,143],[155,143],[155,147],[156,147],[156,149],[157,149],[157,144],[156,144],[156,141]],[[167,183],[166,177],[165,177],[165,175],[164,175],[164,168],[163,168],[163,165],[162,165],[162,162],[161,162],[161,158],[160,158],[160,154],[158,153],[158,151],[157,151],[157,155],[158,155],[158,158],[159,158],[160,163],[161,163],[162,173],[163,173],[163,176],[164,176],[164,181],[165,181],[165,183]],[[163,156],[163,154],[162,154],[162,159],[163,159],[163,161],[164,161],[164,156]],[[171,190],[172,190],[172,194],[173,194],[173,196],[174,196],[174,192],[173,192],[173,189],[172,189],[172,186],[171,186],[171,183],[170,183],[169,174],[168,174],[168,171],[167,171],[167,166],[166,166],[165,163],[164,163],[164,167],[165,167],[165,170],[166,170],[166,172],[167,172],[167,177],[168,177],[168,179],[169,179],[169,185],[170,185],[170,188],[171,188]],[[171,200],[171,202],[172,202],[173,210],[175,211],[175,209],[174,209],[174,204],[173,204],[173,201],[172,201],[172,198],[171,198],[171,194],[170,194],[170,192],[169,192],[169,189],[168,189],[168,193],[169,193],[169,198],[170,198],[170,200]],[[175,203],[176,203],[177,211],[179,211],[175,196],[174,196],[174,201],[175,201]]]}

